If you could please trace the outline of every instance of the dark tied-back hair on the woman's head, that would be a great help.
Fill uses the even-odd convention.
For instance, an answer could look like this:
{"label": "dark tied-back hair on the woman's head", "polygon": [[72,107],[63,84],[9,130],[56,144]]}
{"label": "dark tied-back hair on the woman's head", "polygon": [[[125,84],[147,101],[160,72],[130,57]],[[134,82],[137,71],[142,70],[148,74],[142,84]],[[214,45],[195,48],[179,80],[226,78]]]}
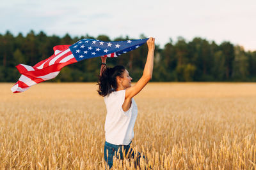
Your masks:
{"label": "dark tied-back hair on the woman's head", "polygon": [[100,96],[107,96],[117,88],[116,77],[122,77],[124,73],[124,66],[107,67],[101,74],[98,80]]}

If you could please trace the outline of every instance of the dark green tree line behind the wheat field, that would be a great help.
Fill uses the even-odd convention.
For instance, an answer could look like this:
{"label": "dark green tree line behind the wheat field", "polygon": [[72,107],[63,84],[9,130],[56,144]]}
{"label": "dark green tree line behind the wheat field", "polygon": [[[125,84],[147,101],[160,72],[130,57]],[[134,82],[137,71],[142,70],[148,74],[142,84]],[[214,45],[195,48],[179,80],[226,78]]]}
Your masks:
{"label": "dark green tree line behind the wheat field", "polygon": [[[83,38],[101,41],[134,39],[128,36],[110,39],[106,35],[93,37],[88,34],[74,38],[69,34],[47,36],[43,31],[13,36],[6,31],[0,34],[0,81],[17,81],[20,76],[15,67],[17,64],[34,66],[52,55],[53,46],[72,45]],[[142,34],[140,38],[145,36]],[[146,58],[147,44],[117,59],[108,58],[107,63],[110,67],[118,64],[127,67],[133,81],[138,81]],[[217,45],[198,37],[191,41],[182,37],[176,42],[170,39],[163,49],[156,45],[154,60],[152,81],[256,81],[256,51],[246,52],[243,46],[235,46],[229,41]],[[63,67],[60,74],[49,81],[97,81],[99,70],[100,58],[96,57]]]}

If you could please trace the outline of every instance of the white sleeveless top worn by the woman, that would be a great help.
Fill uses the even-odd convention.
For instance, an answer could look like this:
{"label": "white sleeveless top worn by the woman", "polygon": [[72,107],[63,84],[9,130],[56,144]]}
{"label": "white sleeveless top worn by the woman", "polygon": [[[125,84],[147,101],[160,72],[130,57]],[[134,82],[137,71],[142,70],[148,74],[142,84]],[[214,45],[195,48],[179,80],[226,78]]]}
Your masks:
{"label": "white sleeveless top worn by the woman", "polygon": [[105,138],[114,145],[129,145],[134,137],[133,127],[138,115],[137,104],[132,98],[131,108],[124,111],[122,105],[125,99],[125,90],[111,92],[104,97],[107,108],[105,122]]}

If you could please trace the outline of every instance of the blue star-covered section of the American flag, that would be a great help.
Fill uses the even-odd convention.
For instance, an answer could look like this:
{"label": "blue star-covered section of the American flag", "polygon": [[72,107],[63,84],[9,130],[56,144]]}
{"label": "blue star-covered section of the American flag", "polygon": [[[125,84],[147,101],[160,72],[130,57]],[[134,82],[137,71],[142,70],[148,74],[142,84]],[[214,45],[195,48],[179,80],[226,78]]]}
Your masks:
{"label": "blue star-covered section of the American flag", "polygon": [[138,48],[147,40],[148,38],[106,42],[99,41],[98,39],[81,39],[69,48],[78,62],[100,56],[117,57],[122,55],[122,53],[127,53]]}

